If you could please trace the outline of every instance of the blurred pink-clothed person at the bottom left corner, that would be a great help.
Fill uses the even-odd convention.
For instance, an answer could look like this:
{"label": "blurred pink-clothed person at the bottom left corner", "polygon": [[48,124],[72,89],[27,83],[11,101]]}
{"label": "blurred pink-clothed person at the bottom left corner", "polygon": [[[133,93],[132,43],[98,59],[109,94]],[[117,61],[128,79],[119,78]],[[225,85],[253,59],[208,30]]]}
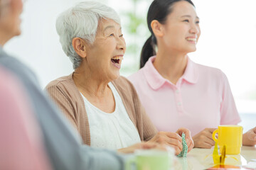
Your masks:
{"label": "blurred pink-clothed person at the bottom left corner", "polygon": [[0,169],[47,170],[41,131],[22,85],[0,67]]}

